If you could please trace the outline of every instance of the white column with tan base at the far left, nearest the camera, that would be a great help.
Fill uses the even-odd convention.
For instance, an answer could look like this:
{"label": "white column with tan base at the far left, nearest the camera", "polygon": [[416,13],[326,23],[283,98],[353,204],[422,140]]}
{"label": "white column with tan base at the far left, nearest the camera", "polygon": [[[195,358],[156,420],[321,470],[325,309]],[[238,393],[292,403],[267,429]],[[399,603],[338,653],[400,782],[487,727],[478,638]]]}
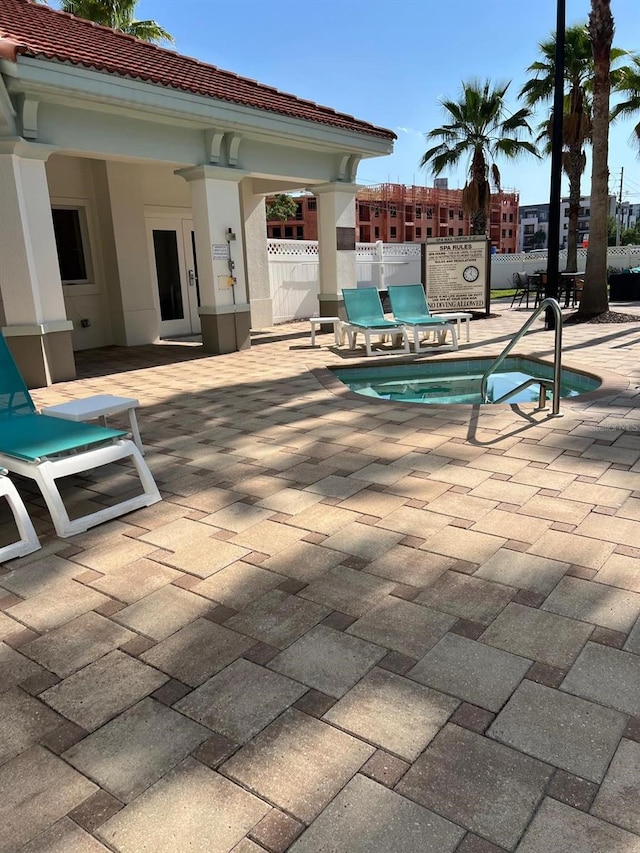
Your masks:
{"label": "white column with tan base at the far left, nearest the camera", "polygon": [[45,172],[54,150],[0,141],[2,332],[30,388],[76,376]]}

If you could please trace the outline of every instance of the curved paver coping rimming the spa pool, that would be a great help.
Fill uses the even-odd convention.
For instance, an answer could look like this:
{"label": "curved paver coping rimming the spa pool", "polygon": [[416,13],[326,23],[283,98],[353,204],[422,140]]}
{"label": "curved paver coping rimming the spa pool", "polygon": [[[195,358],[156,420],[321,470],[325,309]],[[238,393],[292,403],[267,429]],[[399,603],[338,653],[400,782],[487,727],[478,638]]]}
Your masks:
{"label": "curved paver coping rimming the spa pool", "polygon": [[[490,359],[496,359],[498,356],[492,355],[465,355],[464,358],[438,358],[437,360],[430,359],[406,359],[406,358],[394,358],[392,361],[387,359],[367,359],[365,361],[356,361],[350,363],[348,367],[344,366],[335,366],[335,367],[317,367],[312,368],[311,372],[316,377],[316,379],[320,382],[320,384],[331,394],[337,397],[343,397],[347,400],[352,400],[354,402],[358,402],[362,404],[368,405],[393,405],[393,406],[402,406],[414,408],[415,406],[419,406],[422,411],[426,410],[435,410],[441,408],[450,408],[455,407],[456,411],[461,411],[463,409],[477,409],[478,406],[505,406],[508,408],[518,407],[520,409],[523,406],[532,406],[533,410],[536,410],[534,403],[410,403],[406,400],[384,400],[375,397],[367,397],[364,394],[358,394],[356,391],[351,391],[342,380],[338,379],[335,375],[335,370],[351,370],[357,369],[360,367],[401,367],[402,365],[415,365],[415,364],[446,364],[449,362],[460,362],[460,361],[487,361]],[[544,364],[547,367],[552,367],[553,362],[551,362],[548,358],[543,358],[536,354],[528,354],[526,356],[523,355],[511,355],[507,356],[508,358],[526,358],[528,361],[534,361],[538,364]],[[571,370],[574,373],[579,373],[582,376],[588,376],[594,379],[598,379],[600,381],[600,386],[598,388],[594,388],[593,391],[585,391],[584,394],[579,394],[575,397],[563,397],[562,405],[565,404],[573,405],[576,403],[590,403],[594,400],[600,400],[604,398],[613,398],[617,397],[619,394],[624,393],[628,390],[631,380],[621,376],[619,373],[615,373],[612,370],[606,369],[598,369],[596,373],[593,370],[585,370],[583,367],[578,367],[575,363],[571,361],[562,360],[562,368],[564,370]],[[536,411],[540,411],[537,409]]]}

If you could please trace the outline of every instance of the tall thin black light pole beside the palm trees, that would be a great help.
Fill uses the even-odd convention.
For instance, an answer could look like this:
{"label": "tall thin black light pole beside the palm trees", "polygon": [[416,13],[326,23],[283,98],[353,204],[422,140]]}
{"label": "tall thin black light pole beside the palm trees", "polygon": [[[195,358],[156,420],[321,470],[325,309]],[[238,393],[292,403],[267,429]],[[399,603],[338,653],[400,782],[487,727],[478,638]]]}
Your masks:
{"label": "tall thin black light pole beside the palm trees", "polygon": [[[545,296],[558,298],[560,264],[560,189],[562,183],[562,120],[564,118],[564,42],[565,0],[557,0],[556,56],[551,131],[551,183],[549,188],[549,243],[547,251],[547,288]],[[545,314],[547,329],[555,328],[550,308]]]}

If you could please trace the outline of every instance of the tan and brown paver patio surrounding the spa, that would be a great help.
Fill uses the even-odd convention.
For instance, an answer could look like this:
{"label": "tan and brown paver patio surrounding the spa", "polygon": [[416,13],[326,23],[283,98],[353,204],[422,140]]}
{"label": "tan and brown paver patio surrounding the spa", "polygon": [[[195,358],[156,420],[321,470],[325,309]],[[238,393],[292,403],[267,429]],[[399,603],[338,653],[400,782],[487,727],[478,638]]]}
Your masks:
{"label": "tan and brown paver patio surrounding the spa", "polygon": [[[528,316],[493,310],[461,357]],[[163,501],[62,540],[16,478],[43,548],[0,566],[2,853],[640,853],[620,310],[638,324],[565,327],[606,383],[557,419],[334,393],[325,368],[360,359],[305,323],[226,356],[78,353],[36,403],[139,398]],[[517,352],[549,358],[535,329]]]}

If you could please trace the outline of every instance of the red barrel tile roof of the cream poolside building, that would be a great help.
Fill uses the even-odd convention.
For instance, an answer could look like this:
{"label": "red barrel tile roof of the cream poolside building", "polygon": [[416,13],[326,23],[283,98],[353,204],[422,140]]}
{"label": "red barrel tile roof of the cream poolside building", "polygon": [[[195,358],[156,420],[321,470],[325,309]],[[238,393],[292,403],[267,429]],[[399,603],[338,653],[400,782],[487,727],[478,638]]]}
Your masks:
{"label": "red barrel tile roof of the cream poolside building", "polygon": [[387,139],[385,128],[30,0],[1,0],[0,58],[69,62],[184,92]]}

